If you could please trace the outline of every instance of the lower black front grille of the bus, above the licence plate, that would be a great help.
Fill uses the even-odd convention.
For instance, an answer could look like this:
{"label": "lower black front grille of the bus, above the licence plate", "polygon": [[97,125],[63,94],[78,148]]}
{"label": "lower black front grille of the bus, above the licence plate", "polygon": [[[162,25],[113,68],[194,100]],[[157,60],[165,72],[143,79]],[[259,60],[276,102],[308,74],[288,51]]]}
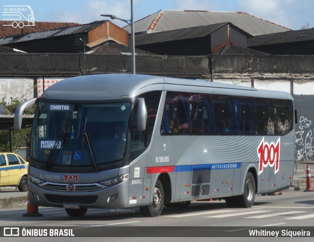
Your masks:
{"label": "lower black front grille of the bus, above the licence plate", "polygon": [[80,204],[93,204],[96,202],[98,196],[63,196],[63,195],[52,195],[45,194],[46,199],[51,203],[80,203]]}

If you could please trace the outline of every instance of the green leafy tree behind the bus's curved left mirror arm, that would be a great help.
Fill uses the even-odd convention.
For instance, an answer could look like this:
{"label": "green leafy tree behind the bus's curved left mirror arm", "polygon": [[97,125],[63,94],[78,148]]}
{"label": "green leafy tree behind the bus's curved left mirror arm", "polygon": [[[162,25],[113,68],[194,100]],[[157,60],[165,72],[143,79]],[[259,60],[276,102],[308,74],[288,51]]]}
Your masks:
{"label": "green leafy tree behind the bus's curved left mirror arm", "polygon": [[[6,113],[14,114],[17,107],[23,101],[18,100],[18,98],[10,97],[10,101],[6,102],[5,98],[2,97],[0,104],[6,108]],[[36,105],[31,105],[30,107],[24,110],[24,114],[34,114],[36,110]],[[31,127],[24,128],[22,130],[13,130],[12,132],[12,145],[13,145],[13,152],[17,152],[22,146],[29,146],[30,144],[30,133]],[[3,129],[0,130],[0,151],[1,152],[10,152],[10,143],[9,143],[9,130]]]}

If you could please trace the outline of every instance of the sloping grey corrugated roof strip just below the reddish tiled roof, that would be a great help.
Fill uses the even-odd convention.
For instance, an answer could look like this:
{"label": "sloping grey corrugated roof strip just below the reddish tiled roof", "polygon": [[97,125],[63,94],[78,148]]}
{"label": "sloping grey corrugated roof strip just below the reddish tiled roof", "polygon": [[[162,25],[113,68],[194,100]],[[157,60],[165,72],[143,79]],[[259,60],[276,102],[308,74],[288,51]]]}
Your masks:
{"label": "sloping grey corrugated roof strip just below the reddish tiled roof", "polygon": [[17,42],[25,42],[25,41],[30,41],[30,40],[45,39],[45,38],[50,38],[54,36],[84,33],[86,31],[89,31],[103,24],[106,21],[108,20],[95,21],[90,24],[82,24],[82,25],[74,26],[74,27],[58,28],[58,29],[53,29],[53,30],[48,30],[48,31],[43,31],[43,32],[27,33],[27,34],[15,36],[15,37],[4,37],[4,38],[0,38],[0,45],[17,43]]}

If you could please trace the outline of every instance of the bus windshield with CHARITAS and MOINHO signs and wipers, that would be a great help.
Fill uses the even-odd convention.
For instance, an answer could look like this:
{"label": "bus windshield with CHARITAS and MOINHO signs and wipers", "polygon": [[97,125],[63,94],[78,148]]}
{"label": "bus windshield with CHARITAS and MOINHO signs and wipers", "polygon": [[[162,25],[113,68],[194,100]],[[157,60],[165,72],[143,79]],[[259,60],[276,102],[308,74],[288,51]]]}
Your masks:
{"label": "bus windshield with CHARITAS and MOINHO signs and wipers", "polygon": [[39,102],[30,158],[52,167],[92,167],[124,158],[131,102]]}

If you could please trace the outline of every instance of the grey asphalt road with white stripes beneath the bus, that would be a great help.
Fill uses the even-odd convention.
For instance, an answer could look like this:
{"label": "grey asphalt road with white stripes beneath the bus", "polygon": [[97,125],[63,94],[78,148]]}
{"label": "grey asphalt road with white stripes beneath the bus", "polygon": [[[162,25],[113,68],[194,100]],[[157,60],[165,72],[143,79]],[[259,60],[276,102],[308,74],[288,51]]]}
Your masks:
{"label": "grey asphalt road with white stripes beneath the bus", "polygon": [[[238,229],[241,230],[242,228],[235,228],[237,226],[253,229],[261,227],[308,229],[309,226],[312,226],[312,236],[314,236],[314,192],[303,191],[287,191],[276,196],[257,195],[252,208],[228,208],[224,201],[195,201],[185,209],[164,207],[161,216],[157,218],[144,218],[137,208],[129,210],[90,209],[83,218],[68,217],[62,208],[39,207],[39,212],[43,214],[42,217],[22,217],[22,214],[26,213],[25,208],[1,210],[0,227],[71,227],[74,228],[74,234],[82,235],[83,233],[82,236],[92,237],[88,238],[88,241],[177,242],[178,238],[175,237],[180,237],[180,241],[209,241],[213,239],[224,242],[239,241],[237,233]],[[224,229],[222,231],[210,230],[215,226],[223,226]],[[216,237],[211,239],[199,237],[202,234],[208,235],[208,229],[204,230],[204,227],[209,228],[209,231],[212,231]],[[171,231],[169,231],[170,228]],[[197,231],[199,234],[196,234]],[[169,235],[170,232],[172,232],[171,235]],[[112,233],[126,237],[108,238],[107,236],[112,235]],[[102,238],[94,238],[95,235]],[[169,238],[162,239],[161,237],[164,235],[169,236]],[[195,235],[196,238],[194,238]],[[232,237],[233,235],[235,238]],[[141,236],[151,238],[147,240],[146,237]],[[11,238],[6,239],[8,240],[5,241],[10,241]],[[15,240],[17,239],[23,239],[23,242],[34,241],[32,238],[15,238]],[[62,238],[61,240],[60,238],[45,238],[45,241],[65,240],[78,242],[86,241],[87,238]],[[285,242],[310,240],[313,241],[313,237],[276,238],[276,241]],[[245,238],[244,241],[274,241],[274,238]]]}

